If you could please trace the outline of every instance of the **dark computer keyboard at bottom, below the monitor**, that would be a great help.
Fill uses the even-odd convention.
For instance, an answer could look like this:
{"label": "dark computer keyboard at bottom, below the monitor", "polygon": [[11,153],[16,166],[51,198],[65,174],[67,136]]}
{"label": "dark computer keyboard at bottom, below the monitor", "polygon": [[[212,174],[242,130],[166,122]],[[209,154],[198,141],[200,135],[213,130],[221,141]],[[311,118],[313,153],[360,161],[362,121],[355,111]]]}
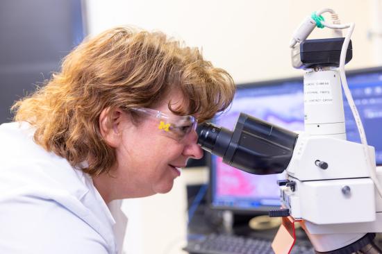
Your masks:
{"label": "dark computer keyboard at bottom, below the monitor", "polygon": [[[184,251],[192,254],[272,254],[271,239],[211,234],[192,240]],[[314,254],[309,242],[295,244],[291,254]]]}

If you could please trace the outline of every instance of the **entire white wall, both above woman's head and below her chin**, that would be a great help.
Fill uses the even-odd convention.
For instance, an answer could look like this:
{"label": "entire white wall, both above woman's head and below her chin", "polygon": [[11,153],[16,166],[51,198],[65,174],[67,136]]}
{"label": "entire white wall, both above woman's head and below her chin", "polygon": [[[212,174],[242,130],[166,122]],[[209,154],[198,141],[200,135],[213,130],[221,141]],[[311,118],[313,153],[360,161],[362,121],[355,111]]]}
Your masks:
{"label": "entire white wall, both above woman's head and below her chin", "polygon": [[[124,24],[160,30],[202,48],[205,58],[229,71],[236,83],[246,83],[302,75],[290,65],[290,37],[304,17],[326,7],[338,12],[342,22],[356,23],[348,69],[380,64],[374,54],[379,45],[367,39],[372,20],[379,17],[379,1],[88,0],[87,5],[92,35]],[[326,35],[316,29],[310,38]],[[128,253],[181,253],[184,188],[184,179],[178,179],[170,194],[126,201]]]}

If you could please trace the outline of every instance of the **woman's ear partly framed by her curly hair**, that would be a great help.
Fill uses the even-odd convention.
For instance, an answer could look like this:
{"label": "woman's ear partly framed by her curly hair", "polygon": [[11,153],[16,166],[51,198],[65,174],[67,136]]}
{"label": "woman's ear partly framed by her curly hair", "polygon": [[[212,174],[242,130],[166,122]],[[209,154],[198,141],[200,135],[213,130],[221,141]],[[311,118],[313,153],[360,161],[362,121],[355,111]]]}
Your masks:
{"label": "woman's ear partly framed by her curly hair", "polygon": [[105,108],[99,115],[99,130],[101,136],[112,147],[121,142],[122,126],[126,124],[126,117],[120,108]]}

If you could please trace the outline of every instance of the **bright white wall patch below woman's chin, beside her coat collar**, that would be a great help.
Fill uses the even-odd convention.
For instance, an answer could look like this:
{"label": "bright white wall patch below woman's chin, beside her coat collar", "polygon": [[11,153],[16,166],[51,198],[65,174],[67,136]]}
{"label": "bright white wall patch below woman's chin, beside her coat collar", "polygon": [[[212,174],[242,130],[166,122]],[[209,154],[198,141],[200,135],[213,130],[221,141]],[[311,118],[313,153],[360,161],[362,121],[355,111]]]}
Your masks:
{"label": "bright white wall patch below woman's chin, beside her coat collar", "polygon": [[167,194],[124,200],[122,210],[128,217],[126,253],[183,253],[181,248],[187,243],[186,201],[184,178],[177,178]]}

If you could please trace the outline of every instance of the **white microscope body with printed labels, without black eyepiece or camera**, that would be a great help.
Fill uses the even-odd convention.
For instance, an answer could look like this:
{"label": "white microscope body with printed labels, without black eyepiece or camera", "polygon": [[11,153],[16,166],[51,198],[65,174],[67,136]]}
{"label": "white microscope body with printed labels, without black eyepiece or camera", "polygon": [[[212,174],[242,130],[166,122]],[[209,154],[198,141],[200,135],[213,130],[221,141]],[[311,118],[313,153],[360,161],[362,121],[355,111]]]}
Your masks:
{"label": "white microscope body with printed labels, without black eyepiece or camera", "polygon": [[[305,132],[286,169],[290,182],[281,187],[283,205],[294,219],[305,221],[320,252],[342,248],[367,232],[382,232],[382,198],[363,145],[346,140],[342,103],[338,70],[305,74]],[[369,153],[374,158],[372,146]],[[382,182],[381,170],[377,177]]]}

